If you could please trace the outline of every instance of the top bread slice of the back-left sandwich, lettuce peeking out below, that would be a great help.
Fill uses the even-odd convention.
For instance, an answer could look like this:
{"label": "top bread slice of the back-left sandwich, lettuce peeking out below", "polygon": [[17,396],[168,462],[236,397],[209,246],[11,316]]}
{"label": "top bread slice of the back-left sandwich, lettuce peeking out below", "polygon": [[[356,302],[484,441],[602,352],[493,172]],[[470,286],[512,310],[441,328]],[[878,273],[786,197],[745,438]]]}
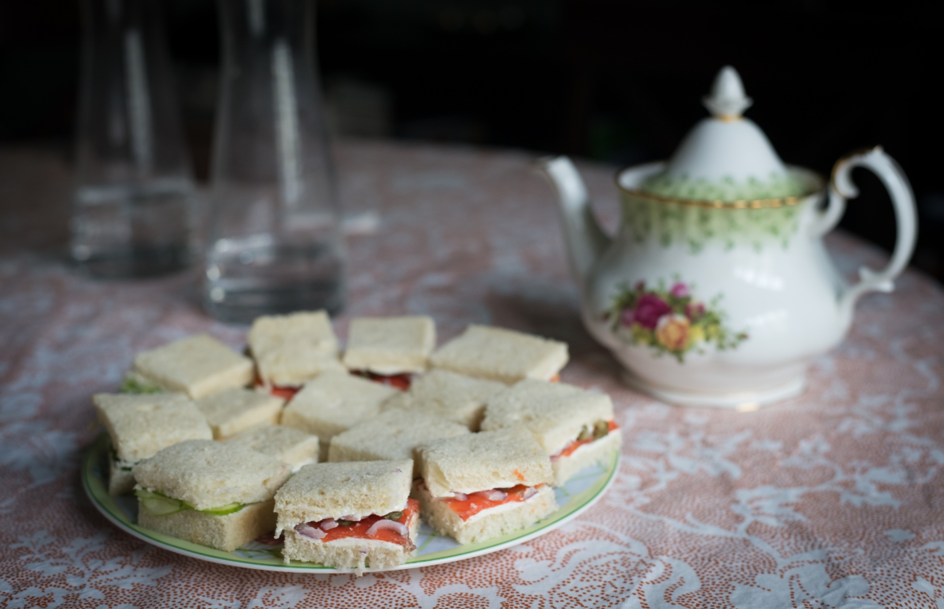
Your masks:
{"label": "top bread slice of the back-left sandwich, lettuce peeking out below", "polygon": [[206,334],[139,353],[132,371],[167,391],[203,398],[252,382],[252,360]]}

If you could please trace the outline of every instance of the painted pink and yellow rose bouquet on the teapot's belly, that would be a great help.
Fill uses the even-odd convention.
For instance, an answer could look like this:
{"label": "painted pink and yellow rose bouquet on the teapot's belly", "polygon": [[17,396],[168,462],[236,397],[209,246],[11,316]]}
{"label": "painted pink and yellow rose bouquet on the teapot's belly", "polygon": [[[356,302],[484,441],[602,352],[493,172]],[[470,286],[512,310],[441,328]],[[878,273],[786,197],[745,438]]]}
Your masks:
{"label": "painted pink and yellow rose bouquet on the teapot's belly", "polygon": [[655,288],[648,288],[645,281],[632,288],[624,283],[603,317],[622,340],[651,347],[656,356],[671,355],[681,364],[693,350],[704,353],[705,347],[714,346],[724,351],[746,341],[746,332],[724,325],[726,315],[718,306],[721,295],[705,304],[692,295],[694,287],[678,278],[668,289],[663,280]]}

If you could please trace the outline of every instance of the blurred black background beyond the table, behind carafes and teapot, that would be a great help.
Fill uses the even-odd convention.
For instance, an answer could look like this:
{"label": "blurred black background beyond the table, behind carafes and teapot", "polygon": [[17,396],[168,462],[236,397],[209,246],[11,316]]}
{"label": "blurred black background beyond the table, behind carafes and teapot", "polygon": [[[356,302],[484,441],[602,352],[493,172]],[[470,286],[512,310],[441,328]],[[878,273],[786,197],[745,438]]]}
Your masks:
{"label": "blurred black background beyond the table, behind carafes and teapot", "polygon": [[[206,179],[216,5],[163,4],[194,168]],[[670,156],[730,63],[755,100],[748,116],[784,161],[828,175],[852,149],[882,144],[900,162],[919,203],[913,262],[944,279],[938,12],[931,2],[323,0],[317,46],[340,135],[620,164]],[[76,0],[0,2],[0,145],[71,154],[80,34]],[[862,195],[842,226],[889,249],[887,195],[867,172],[854,178]]]}

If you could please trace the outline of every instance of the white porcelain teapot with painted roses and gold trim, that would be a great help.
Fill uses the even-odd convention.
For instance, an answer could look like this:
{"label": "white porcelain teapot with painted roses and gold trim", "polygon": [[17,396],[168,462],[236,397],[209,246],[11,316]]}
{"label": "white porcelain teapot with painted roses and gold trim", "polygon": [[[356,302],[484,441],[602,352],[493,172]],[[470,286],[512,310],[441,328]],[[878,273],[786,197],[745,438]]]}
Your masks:
{"label": "white porcelain teapot with painted roses and gold trim", "polygon": [[[558,195],[583,324],[624,380],[672,404],[753,410],[799,395],[807,366],[846,335],[859,297],[892,291],[915,246],[915,200],[881,147],[837,161],[828,183],[784,165],[743,116],[752,102],[731,66],[703,103],[711,116],[669,161],[617,174],[613,237],[571,161],[538,167]],[[863,267],[847,285],[822,238],[858,195],[853,167],[884,183],[897,238],[884,269]]]}

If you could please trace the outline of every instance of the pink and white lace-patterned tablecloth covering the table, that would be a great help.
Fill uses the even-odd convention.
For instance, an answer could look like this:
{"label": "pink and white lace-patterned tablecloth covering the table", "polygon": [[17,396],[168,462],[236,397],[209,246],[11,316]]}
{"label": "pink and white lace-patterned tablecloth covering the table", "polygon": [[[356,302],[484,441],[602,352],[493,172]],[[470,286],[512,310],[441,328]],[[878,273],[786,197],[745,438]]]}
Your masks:
{"label": "pink and white lace-patterned tablecloth covering the table", "polygon": [[[564,381],[610,393],[624,432],[610,492],[529,543],[437,567],[298,575],[151,547],[85,499],[89,396],[132,356],[244,328],[197,306],[195,273],[82,279],[60,260],[69,173],[0,152],[0,605],[7,607],[944,607],[944,293],[905,273],[867,296],[801,397],[754,413],[682,410],[633,393],[582,330],[546,184],[525,153],[339,146],[342,193],[380,202],[350,241],[351,316],[429,313],[563,339]],[[614,168],[584,167],[616,219]],[[848,275],[883,256],[831,238]]]}

